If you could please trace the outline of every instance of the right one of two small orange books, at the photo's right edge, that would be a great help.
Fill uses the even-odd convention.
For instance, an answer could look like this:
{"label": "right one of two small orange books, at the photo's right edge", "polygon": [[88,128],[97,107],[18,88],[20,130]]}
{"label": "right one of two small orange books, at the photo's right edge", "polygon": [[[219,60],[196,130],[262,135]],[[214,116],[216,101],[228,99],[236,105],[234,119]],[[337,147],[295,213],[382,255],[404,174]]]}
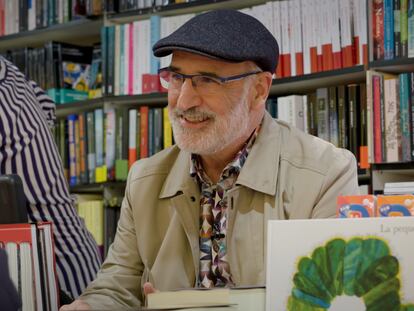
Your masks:
{"label": "right one of two small orange books, at the photo's right edge", "polygon": [[377,216],[413,216],[414,195],[379,195],[377,201]]}

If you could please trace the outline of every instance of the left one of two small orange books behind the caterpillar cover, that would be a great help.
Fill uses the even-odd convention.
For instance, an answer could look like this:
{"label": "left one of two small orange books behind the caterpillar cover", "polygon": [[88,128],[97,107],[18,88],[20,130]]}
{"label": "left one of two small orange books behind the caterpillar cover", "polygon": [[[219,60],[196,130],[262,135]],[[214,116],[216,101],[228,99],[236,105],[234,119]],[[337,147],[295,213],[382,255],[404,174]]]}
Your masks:
{"label": "left one of two small orange books behind the caterpillar cover", "polygon": [[345,195],[337,199],[338,218],[362,218],[375,216],[374,195]]}

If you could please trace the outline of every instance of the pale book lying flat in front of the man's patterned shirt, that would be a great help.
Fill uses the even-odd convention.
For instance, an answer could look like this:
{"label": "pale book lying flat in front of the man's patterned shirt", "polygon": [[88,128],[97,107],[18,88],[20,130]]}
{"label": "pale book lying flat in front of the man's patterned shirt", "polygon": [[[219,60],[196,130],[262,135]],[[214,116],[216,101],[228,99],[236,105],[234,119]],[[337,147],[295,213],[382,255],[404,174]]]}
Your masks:
{"label": "pale book lying flat in front of the man's patterned shirt", "polygon": [[264,311],[265,288],[194,288],[159,291],[148,295],[147,307],[159,310],[200,310],[200,308],[206,308],[206,310],[220,308],[221,310],[223,308],[223,310]]}

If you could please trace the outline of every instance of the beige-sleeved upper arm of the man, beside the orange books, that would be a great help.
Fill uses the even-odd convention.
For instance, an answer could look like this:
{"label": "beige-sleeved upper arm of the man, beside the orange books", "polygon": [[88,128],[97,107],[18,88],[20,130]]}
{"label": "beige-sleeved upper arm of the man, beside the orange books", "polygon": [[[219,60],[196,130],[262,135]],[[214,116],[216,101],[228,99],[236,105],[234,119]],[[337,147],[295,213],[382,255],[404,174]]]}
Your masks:
{"label": "beige-sleeved upper arm of the man, beside the orange books", "polygon": [[359,194],[358,170],[355,156],[348,150],[336,149],[337,157],[331,163],[322,185],[312,218],[336,217],[336,200],[340,195]]}

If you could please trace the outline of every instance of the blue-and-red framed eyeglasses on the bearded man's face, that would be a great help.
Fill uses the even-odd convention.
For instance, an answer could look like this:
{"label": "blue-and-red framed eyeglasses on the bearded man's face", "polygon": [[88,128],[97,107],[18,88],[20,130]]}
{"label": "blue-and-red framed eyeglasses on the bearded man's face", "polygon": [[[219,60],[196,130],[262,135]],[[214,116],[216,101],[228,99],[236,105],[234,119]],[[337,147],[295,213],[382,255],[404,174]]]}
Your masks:
{"label": "blue-and-red framed eyeglasses on the bearded man's face", "polygon": [[180,90],[185,79],[191,79],[191,83],[195,88],[197,88],[197,91],[206,94],[219,91],[225,83],[241,80],[261,72],[262,71],[258,70],[230,77],[218,77],[206,74],[185,75],[171,70],[170,67],[158,70],[162,87],[168,90]]}

